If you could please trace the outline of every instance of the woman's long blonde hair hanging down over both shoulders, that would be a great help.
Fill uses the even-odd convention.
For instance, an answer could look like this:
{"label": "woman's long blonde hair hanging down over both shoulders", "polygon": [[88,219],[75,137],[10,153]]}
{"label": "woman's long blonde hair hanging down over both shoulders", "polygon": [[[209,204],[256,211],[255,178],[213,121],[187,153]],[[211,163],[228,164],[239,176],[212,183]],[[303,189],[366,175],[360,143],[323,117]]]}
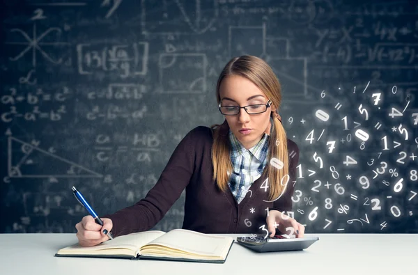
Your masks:
{"label": "woman's long blonde hair hanging down over both shoulders", "polygon": [[[216,97],[217,103],[221,102],[219,95],[219,87],[225,77],[229,75],[239,75],[252,81],[263,93],[272,101],[272,105],[279,110],[281,104],[281,86],[279,80],[274,74],[272,68],[263,61],[263,59],[256,56],[239,56],[232,58],[224,67],[219,78],[217,80]],[[287,149],[287,136],[283,125],[279,119],[273,118],[272,131],[270,132],[270,141],[268,145],[268,164],[265,166],[262,177],[265,177],[268,173],[268,186],[270,187],[269,200],[278,198],[286,189],[286,182],[289,178],[284,178],[288,175],[288,149]],[[217,186],[222,191],[226,191],[228,188],[229,175],[232,173],[232,162],[230,158],[231,145],[229,142],[228,130],[229,125],[226,120],[222,125],[211,125],[213,136],[212,146],[212,164],[213,164],[213,180],[217,180]],[[279,144],[276,145],[276,141]],[[281,169],[272,167],[270,160],[275,157],[284,166]]]}

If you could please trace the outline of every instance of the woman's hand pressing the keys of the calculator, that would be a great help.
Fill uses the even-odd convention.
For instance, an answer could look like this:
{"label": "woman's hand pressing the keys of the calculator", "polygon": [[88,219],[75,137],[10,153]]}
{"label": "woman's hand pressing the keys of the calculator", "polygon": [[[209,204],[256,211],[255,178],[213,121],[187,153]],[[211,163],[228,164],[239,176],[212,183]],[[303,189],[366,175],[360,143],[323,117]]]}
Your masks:
{"label": "woman's hand pressing the keys of the calculator", "polygon": [[276,228],[283,234],[295,235],[297,238],[301,238],[304,235],[304,226],[302,224],[277,210],[270,210],[266,221],[268,232],[271,233],[270,237],[274,237]]}

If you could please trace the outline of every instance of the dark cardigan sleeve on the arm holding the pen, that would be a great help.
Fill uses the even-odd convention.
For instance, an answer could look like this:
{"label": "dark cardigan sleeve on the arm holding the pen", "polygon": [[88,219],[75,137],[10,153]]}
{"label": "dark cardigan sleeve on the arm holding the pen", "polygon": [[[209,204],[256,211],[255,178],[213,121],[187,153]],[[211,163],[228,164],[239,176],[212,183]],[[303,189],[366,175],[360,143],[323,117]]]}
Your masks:
{"label": "dark cardigan sleeve on the arm holding the pen", "polygon": [[189,184],[195,166],[196,128],[186,134],[173,151],[160,178],[146,197],[103,218],[111,219],[114,237],[153,228]]}

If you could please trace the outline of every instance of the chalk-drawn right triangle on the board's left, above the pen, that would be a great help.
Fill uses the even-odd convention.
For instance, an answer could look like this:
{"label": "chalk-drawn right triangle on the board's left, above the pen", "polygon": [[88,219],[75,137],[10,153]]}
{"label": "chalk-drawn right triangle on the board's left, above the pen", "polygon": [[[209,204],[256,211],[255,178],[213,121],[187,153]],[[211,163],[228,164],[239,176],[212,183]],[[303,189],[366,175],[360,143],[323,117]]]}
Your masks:
{"label": "chalk-drawn right triangle on the board's left, above the pen", "polygon": [[102,178],[83,166],[12,136],[8,138],[10,178]]}

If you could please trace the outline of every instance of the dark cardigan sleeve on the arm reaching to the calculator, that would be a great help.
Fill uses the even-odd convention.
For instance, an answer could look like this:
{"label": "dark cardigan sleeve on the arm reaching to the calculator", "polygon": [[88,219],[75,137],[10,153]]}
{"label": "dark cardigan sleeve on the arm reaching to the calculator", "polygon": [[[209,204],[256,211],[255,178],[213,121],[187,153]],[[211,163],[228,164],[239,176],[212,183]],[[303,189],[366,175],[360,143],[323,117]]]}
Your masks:
{"label": "dark cardigan sleeve on the arm reaching to the calculator", "polygon": [[299,148],[297,144],[288,139],[288,152],[295,152],[293,157],[289,157],[289,181],[284,191],[284,194],[277,201],[274,201],[273,207],[270,210],[291,211],[292,210],[292,196],[295,191],[296,167],[299,163]]}

